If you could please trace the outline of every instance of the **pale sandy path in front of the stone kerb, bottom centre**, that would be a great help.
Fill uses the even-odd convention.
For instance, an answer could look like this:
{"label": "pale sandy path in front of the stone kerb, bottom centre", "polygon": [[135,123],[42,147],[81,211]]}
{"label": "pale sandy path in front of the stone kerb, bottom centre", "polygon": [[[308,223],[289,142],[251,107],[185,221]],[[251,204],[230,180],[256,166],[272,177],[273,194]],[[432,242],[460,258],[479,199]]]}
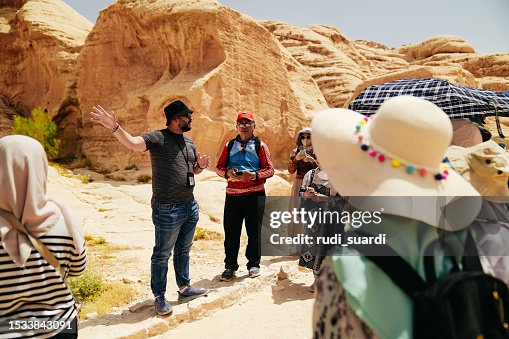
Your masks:
{"label": "pale sandy path in front of the stone kerb, bottom centre", "polygon": [[239,304],[205,319],[184,323],[155,338],[311,338],[312,274],[268,285]]}

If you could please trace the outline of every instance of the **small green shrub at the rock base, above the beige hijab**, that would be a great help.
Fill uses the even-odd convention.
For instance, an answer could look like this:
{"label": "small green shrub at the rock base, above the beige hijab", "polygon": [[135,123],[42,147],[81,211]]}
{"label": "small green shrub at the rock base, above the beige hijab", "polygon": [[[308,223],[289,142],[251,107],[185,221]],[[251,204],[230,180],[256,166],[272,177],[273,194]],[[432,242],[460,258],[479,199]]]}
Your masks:
{"label": "small green shrub at the rock base, above the beige hijab", "polygon": [[58,158],[61,141],[57,138],[57,125],[50,114],[41,108],[34,108],[29,118],[15,116],[12,133],[38,140],[44,147],[49,160]]}

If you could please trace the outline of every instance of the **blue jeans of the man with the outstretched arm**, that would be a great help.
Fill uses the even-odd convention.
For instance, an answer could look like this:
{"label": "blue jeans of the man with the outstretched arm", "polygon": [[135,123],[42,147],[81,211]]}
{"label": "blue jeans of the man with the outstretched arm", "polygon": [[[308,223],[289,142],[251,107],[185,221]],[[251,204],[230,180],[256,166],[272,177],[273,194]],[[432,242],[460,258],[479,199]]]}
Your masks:
{"label": "blue jeans of the man with the outstretched arm", "polygon": [[154,296],[166,292],[168,260],[172,250],[177,286],[190,285],[189,251],[198,219],[196,200],[187,204],[152,204],[155,246],[151,258],[150,287]]}

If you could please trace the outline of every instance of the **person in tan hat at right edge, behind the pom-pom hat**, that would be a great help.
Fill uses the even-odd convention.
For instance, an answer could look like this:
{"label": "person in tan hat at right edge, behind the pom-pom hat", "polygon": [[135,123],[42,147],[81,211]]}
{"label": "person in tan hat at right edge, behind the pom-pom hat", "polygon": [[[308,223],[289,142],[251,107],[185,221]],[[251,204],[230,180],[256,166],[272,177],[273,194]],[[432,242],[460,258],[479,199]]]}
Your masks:
{"label": "person in tan hat at right edge, behind the pom-pom hat", "polygon": [[509,155],[490,140],[469,148],[451,146],[447,158],[484,198],[471,229],[486,255],[487,271],[509,284]]}

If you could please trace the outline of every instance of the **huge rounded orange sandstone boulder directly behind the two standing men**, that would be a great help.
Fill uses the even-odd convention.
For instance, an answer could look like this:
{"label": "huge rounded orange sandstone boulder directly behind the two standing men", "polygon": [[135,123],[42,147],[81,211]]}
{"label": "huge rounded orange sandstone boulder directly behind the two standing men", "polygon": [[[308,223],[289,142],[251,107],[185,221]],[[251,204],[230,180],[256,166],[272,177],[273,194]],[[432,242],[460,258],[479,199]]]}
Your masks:
{"label": "huge rounded orange sandstone boulder directly behind the two standing men", "polygon": [[[164,128],[163,108],[181,99],[195,112],[189,135],[213,160],[235,134],[240,110],[283,166],[294,133],[327,107],[306,70],[270,32],[216,1],[119,1],[103,10],[78,58],[82,120],[93,105],[116,112],[139,135]],[[102,126],[84,123],[82,149],[101,167],[136,163]],[[115,157],[112,157],[115,154]]]}

